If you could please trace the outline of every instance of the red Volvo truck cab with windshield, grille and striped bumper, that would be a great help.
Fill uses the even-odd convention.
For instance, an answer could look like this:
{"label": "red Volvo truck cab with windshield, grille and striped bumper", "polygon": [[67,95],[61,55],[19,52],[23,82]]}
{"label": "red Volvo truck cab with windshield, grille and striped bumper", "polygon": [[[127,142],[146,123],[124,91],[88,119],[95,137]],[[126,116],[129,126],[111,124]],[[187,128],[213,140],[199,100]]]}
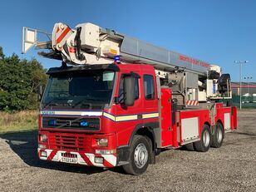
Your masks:
{"label": "red Volvo truck cab with windshield, grille and striped bumper", "polygon": [[159,111],[153,66],[66,66],[51,68],[47,74],[39,118],[40,159],[126,165],[138,131],[147,135],[150,145],[145,158],[154,159],[152,129],[159,127]]}

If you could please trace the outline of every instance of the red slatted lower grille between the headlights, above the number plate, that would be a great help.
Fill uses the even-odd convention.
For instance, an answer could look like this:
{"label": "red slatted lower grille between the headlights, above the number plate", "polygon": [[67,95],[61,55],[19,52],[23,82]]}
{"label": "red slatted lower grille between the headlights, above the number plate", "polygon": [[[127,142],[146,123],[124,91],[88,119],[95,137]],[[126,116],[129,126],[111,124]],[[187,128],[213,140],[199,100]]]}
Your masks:
{"label": "red slatted lower grille between the headlights, above the number plate", "polygon": [[90,135],[53,135],[53,148],[56,150],[88,151],[91,148]]}

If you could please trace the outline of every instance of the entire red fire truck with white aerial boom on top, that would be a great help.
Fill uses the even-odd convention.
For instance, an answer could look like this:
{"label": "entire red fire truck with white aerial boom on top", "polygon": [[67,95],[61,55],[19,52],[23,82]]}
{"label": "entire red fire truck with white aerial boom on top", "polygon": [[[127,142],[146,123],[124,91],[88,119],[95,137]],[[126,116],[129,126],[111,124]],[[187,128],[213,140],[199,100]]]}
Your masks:
{"label": "entire red fire truck with white aerial boom on top", "polygon": [[56,23],[52,34],[23,27],[22,52],[31,47],[62,62],[41,99],[41,160],[140,175],[163,149],[206,152],[237,129],[220,66],[91,23]]}

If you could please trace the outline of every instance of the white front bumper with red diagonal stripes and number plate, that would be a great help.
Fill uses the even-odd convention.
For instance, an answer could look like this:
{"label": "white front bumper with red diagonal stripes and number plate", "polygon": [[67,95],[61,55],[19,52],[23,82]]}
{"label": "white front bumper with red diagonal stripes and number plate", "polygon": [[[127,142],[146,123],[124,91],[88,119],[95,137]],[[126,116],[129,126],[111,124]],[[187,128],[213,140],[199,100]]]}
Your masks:
{"label": "white front bumper with red diagonal stripes and number plate", "polygon": [[[114,167],[116,166],[116,154],[98,155],[91,153],[73,152],[65,150],[48,150],[37,149],[38,157],[41,160],[51,160],[63,163],[78,165],[88,165],[97,167]],[[43,155],[42,155],[43,154]],[[102,163],[96,162],[96,158],[103,158]]]}

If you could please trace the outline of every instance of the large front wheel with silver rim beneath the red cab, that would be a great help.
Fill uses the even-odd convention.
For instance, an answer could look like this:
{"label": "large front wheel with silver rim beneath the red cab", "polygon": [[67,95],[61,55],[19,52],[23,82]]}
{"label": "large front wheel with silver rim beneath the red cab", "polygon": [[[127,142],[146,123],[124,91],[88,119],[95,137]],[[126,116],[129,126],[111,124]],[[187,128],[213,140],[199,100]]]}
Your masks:
{"label": "large front wheel with silver rim beneath the red cab", "polygon": [[151,158],[150,140],[142,135],[135,135],[130,145],[129,164],[123,169],[130,175],[141,175],[148,168]]}

